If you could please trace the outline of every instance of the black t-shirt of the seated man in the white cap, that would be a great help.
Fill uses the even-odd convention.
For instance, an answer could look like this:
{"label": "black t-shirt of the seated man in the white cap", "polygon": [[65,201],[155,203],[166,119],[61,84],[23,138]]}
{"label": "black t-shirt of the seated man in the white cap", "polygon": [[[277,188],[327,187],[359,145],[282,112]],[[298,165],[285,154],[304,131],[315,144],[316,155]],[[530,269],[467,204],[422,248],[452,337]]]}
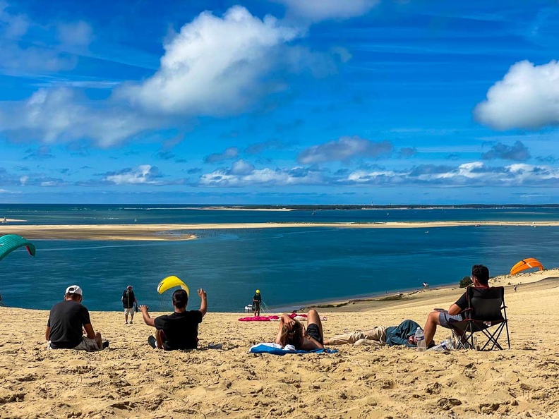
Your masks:
{"label": "black t-shirt of the seated man in the white cap", "polygon": [[54,305],[47,326],[50,327],[49,341],[54,349],[75,348],[82,341],[82,327],[91,324],[89,311],[84,305],[64,300]]}

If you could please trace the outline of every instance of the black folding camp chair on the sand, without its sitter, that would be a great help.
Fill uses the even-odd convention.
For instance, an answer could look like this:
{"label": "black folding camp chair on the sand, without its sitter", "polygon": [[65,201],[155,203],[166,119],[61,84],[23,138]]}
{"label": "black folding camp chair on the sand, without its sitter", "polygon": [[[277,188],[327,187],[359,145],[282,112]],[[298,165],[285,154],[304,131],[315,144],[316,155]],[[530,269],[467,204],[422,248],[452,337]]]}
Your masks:
{"label": "black folding camp chair on the sand, without its sitter", "polygon": [[[499,337],[503,329],[507,331],[507,344],[510,349],[508,332],[507,306],[505,305],[505,287],[466,289],[468,308],[462,312],[464,320],[449,323],[452,336],[457,340],[458,349],[476,348],[478,351],[503,350]],[[483,333],[487,341],[481,346],[474,346],[474,334]]]}

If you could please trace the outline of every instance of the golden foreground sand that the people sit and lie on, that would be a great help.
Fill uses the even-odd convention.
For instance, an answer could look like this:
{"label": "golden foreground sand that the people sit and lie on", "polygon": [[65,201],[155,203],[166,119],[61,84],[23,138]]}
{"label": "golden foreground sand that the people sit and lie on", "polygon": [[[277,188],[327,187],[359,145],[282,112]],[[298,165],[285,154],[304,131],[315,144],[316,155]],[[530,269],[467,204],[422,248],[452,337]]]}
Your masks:
{"label": "golden foreground sand that the people sit and lie on", "polygon": [[[0,416],[556,418],[559,278],[536,280],[557,272],[500,279],[522,284],[516,293],[507,286],[505,294],[512,349],[489,353],[337,346],[328,355],[253,355],[248,348],[272,341],[277,322],[239,322],[242,313],[214,312],[200,325],[198,351],[150,348],[145,342],[153,329],[140,313],[124,324],[121,312],[91,312],[95,329],[111,341],[108,350],[47,351],[47,311],[0,307]],[[325,336],[407,318],[423,324],[432,308],[447,308],[462,292],[421,291],[384,305],[368,301],[349,304],[353,311],[324,312]],[[211,295],[208,303],[211,311]],[[191,308],[196,304],[193,298]],[[447,336],[439,329],[435,340]],[[204,349],[210,343],[224,349]]]}

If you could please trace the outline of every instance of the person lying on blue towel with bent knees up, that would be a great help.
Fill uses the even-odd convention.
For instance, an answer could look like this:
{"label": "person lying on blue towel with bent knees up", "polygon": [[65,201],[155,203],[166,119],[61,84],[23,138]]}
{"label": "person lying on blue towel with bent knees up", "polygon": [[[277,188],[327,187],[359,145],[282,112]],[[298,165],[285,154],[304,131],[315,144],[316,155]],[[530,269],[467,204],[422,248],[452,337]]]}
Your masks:
{"label": "person lying on blue towel with bent knees up", "polygon": [[296,349],[312,351],[324,348],[324,334],[320,316],[316,310],[308,310],[307,327],[299,320],[294,320],[287,314],[279,317],[279,328],[275,343],[286,346],[293,345]]}

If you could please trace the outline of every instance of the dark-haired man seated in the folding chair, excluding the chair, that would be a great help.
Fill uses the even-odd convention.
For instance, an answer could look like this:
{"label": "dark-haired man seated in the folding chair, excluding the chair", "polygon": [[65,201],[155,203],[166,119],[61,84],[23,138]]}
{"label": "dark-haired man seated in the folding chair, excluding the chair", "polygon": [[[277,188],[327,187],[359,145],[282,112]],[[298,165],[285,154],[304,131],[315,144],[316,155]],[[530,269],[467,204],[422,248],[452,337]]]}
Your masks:
{"label": "dark-haired man seated in the folding chair, excluding the chair", "polygon": [[[471,267],[471,281],[474,287],[479,289],[489,289],[489,269],[483,265],[474,265]],[[467,293],[463,293],[457,302],[452,304],[448,310],[435,310],[429,313],[427,322],[423,328],[425,334],[425,342],[427,347],[433,345],[433,337],[437,331],[437,326],[449,328],[448,324],[452,322],[460,322],[463,320],[462,311],[468,308]]]}

